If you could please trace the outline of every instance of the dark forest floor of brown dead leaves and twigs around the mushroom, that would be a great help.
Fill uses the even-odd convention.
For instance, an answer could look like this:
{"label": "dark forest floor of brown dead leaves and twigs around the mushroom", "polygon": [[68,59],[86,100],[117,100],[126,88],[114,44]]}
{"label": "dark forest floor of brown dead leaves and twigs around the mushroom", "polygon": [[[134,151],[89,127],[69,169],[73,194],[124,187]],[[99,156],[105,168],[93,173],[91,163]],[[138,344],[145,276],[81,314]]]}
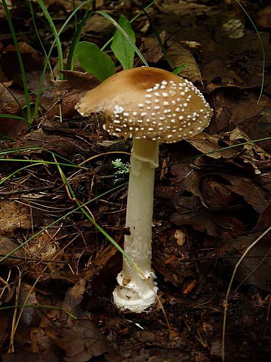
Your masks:
{"label": "dark forest floor of brown dead leaves and twigs around the mushroom", "polygon": [[[30,8],[24,1],[7,3],[29,92],[37,92],[46,58]],[[149,314],[116,308],[112,292],[122,255],[79,208],[89,202],[97,225],[123,246],[128,176],[117,180],[112,161],[129,162],[131,141],[109,136],[102,115],[82,118],[74,109],[93,86],[78,61],[73,71],[64,71],[66,80],[52,82],[46,70],[48,89],[31,130],[8,117],[23,116],[11,93],[21,107],[27,100],[0,8],[0,100],[7,115],[0,121],[6,137],[0,141],[2,361],[216,362],[222,351],[226,362],[270,361],[271,6],[268,0],[240,3],[265,51],[263,83],[259,37],[235,0],[159,0],[148,9],[173,66],[186,63],[180,75],[214,109],[204,132],[160,146],[153,267],[166,318],[159,303]],[[38,1],[31,4],[48,52],[54,36]],[[73,11],[73,2],[44,4],[57,29]],[[97,0],[96,10],[116,21],[140,11],[129,2],[106,0]],[[171,70],[148,18],[141,15],[132,28],[149,65]],[[81,40],[101,48],[114,31],[95,14]],[[60,36],[64,64],[74,33],[73,18]],[[121,70],[110,48],[105,51]],[[55,49],[50,63],[59,78]],[[142,65],[135,57],[134,66]],[[33,93],[30,102],[35,101]],[[233,270],[253,242],[226,299]],[[15,308],[22,305],[28,307]]]}

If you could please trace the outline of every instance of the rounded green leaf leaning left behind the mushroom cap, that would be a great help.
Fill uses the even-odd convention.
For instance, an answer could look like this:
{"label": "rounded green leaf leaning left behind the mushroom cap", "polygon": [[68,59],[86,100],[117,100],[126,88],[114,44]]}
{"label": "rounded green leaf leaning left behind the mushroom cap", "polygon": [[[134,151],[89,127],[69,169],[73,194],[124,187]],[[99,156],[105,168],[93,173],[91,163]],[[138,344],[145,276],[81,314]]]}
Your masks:
{"label": "rounded green leaf leaning left behind the mushroom cap", "polygon": [[93,43],[79,43],[76,49],[76,58],[85,71],[101,81],[116,72],[113,60]]}

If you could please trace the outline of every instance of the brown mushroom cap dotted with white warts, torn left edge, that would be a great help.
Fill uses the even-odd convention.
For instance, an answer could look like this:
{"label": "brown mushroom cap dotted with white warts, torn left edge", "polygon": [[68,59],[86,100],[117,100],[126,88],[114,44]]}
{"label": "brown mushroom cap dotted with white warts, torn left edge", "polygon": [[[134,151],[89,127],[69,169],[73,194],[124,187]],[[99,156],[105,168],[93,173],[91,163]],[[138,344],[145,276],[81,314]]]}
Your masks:
{"label": "brown mushroom cap dotted with white warts, torn left edge", "polygon": [[177,142],[206,128],[212,109],[193,83],[151,67],[123,70],[91,89],[78,103],[82,116],[103,112],[114,136]]}

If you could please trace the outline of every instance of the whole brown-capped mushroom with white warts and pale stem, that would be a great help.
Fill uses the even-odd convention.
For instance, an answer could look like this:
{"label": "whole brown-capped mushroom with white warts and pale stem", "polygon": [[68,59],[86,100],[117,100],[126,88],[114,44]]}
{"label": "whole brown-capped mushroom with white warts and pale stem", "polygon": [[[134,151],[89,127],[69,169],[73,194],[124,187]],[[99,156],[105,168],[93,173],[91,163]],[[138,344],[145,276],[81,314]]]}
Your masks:
{"label": "whole brown-capped mushroom with white warts and pale stem", "polygon": [[[152,269],[152,219],[159,142],[177,142],[206,128],[212,109],[193,83],[163,69],[126,69],[91,89],[76,106],[82,116],[103,112],[104,128],[117,137],[133,138],[127,197],[124,251],[146,280],[123,258],[114,303],[141,313],[156,300]],[[150,288],[150,285],[152,288]]]}

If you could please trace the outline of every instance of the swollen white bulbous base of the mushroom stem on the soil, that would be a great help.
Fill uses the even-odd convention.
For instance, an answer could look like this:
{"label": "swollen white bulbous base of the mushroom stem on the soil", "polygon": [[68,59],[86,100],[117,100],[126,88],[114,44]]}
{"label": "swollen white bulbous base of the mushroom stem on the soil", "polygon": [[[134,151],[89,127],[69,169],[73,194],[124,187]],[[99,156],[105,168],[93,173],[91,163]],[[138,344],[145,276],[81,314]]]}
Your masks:
{"label": "swollen white bulbous base of the mushroom stem on the soil", "polygon": [[141,313],[146,311],[148,308],[151,308],[156,300],[156,293],[158,291],[158,288],[156,287],[157,283],[154,282],[154,279],[156,278],[154,273],[151,272],[148,276],[146,276],[146,279],[148,279],[152,288],[144,279],[142,279],[140,283],[140,288],[132,282],[123,286],[123,278],[120,277],[120,274],[117,277],[119,285],[113,292],[115,305],[120,310],[128,309],[134,313]]}

